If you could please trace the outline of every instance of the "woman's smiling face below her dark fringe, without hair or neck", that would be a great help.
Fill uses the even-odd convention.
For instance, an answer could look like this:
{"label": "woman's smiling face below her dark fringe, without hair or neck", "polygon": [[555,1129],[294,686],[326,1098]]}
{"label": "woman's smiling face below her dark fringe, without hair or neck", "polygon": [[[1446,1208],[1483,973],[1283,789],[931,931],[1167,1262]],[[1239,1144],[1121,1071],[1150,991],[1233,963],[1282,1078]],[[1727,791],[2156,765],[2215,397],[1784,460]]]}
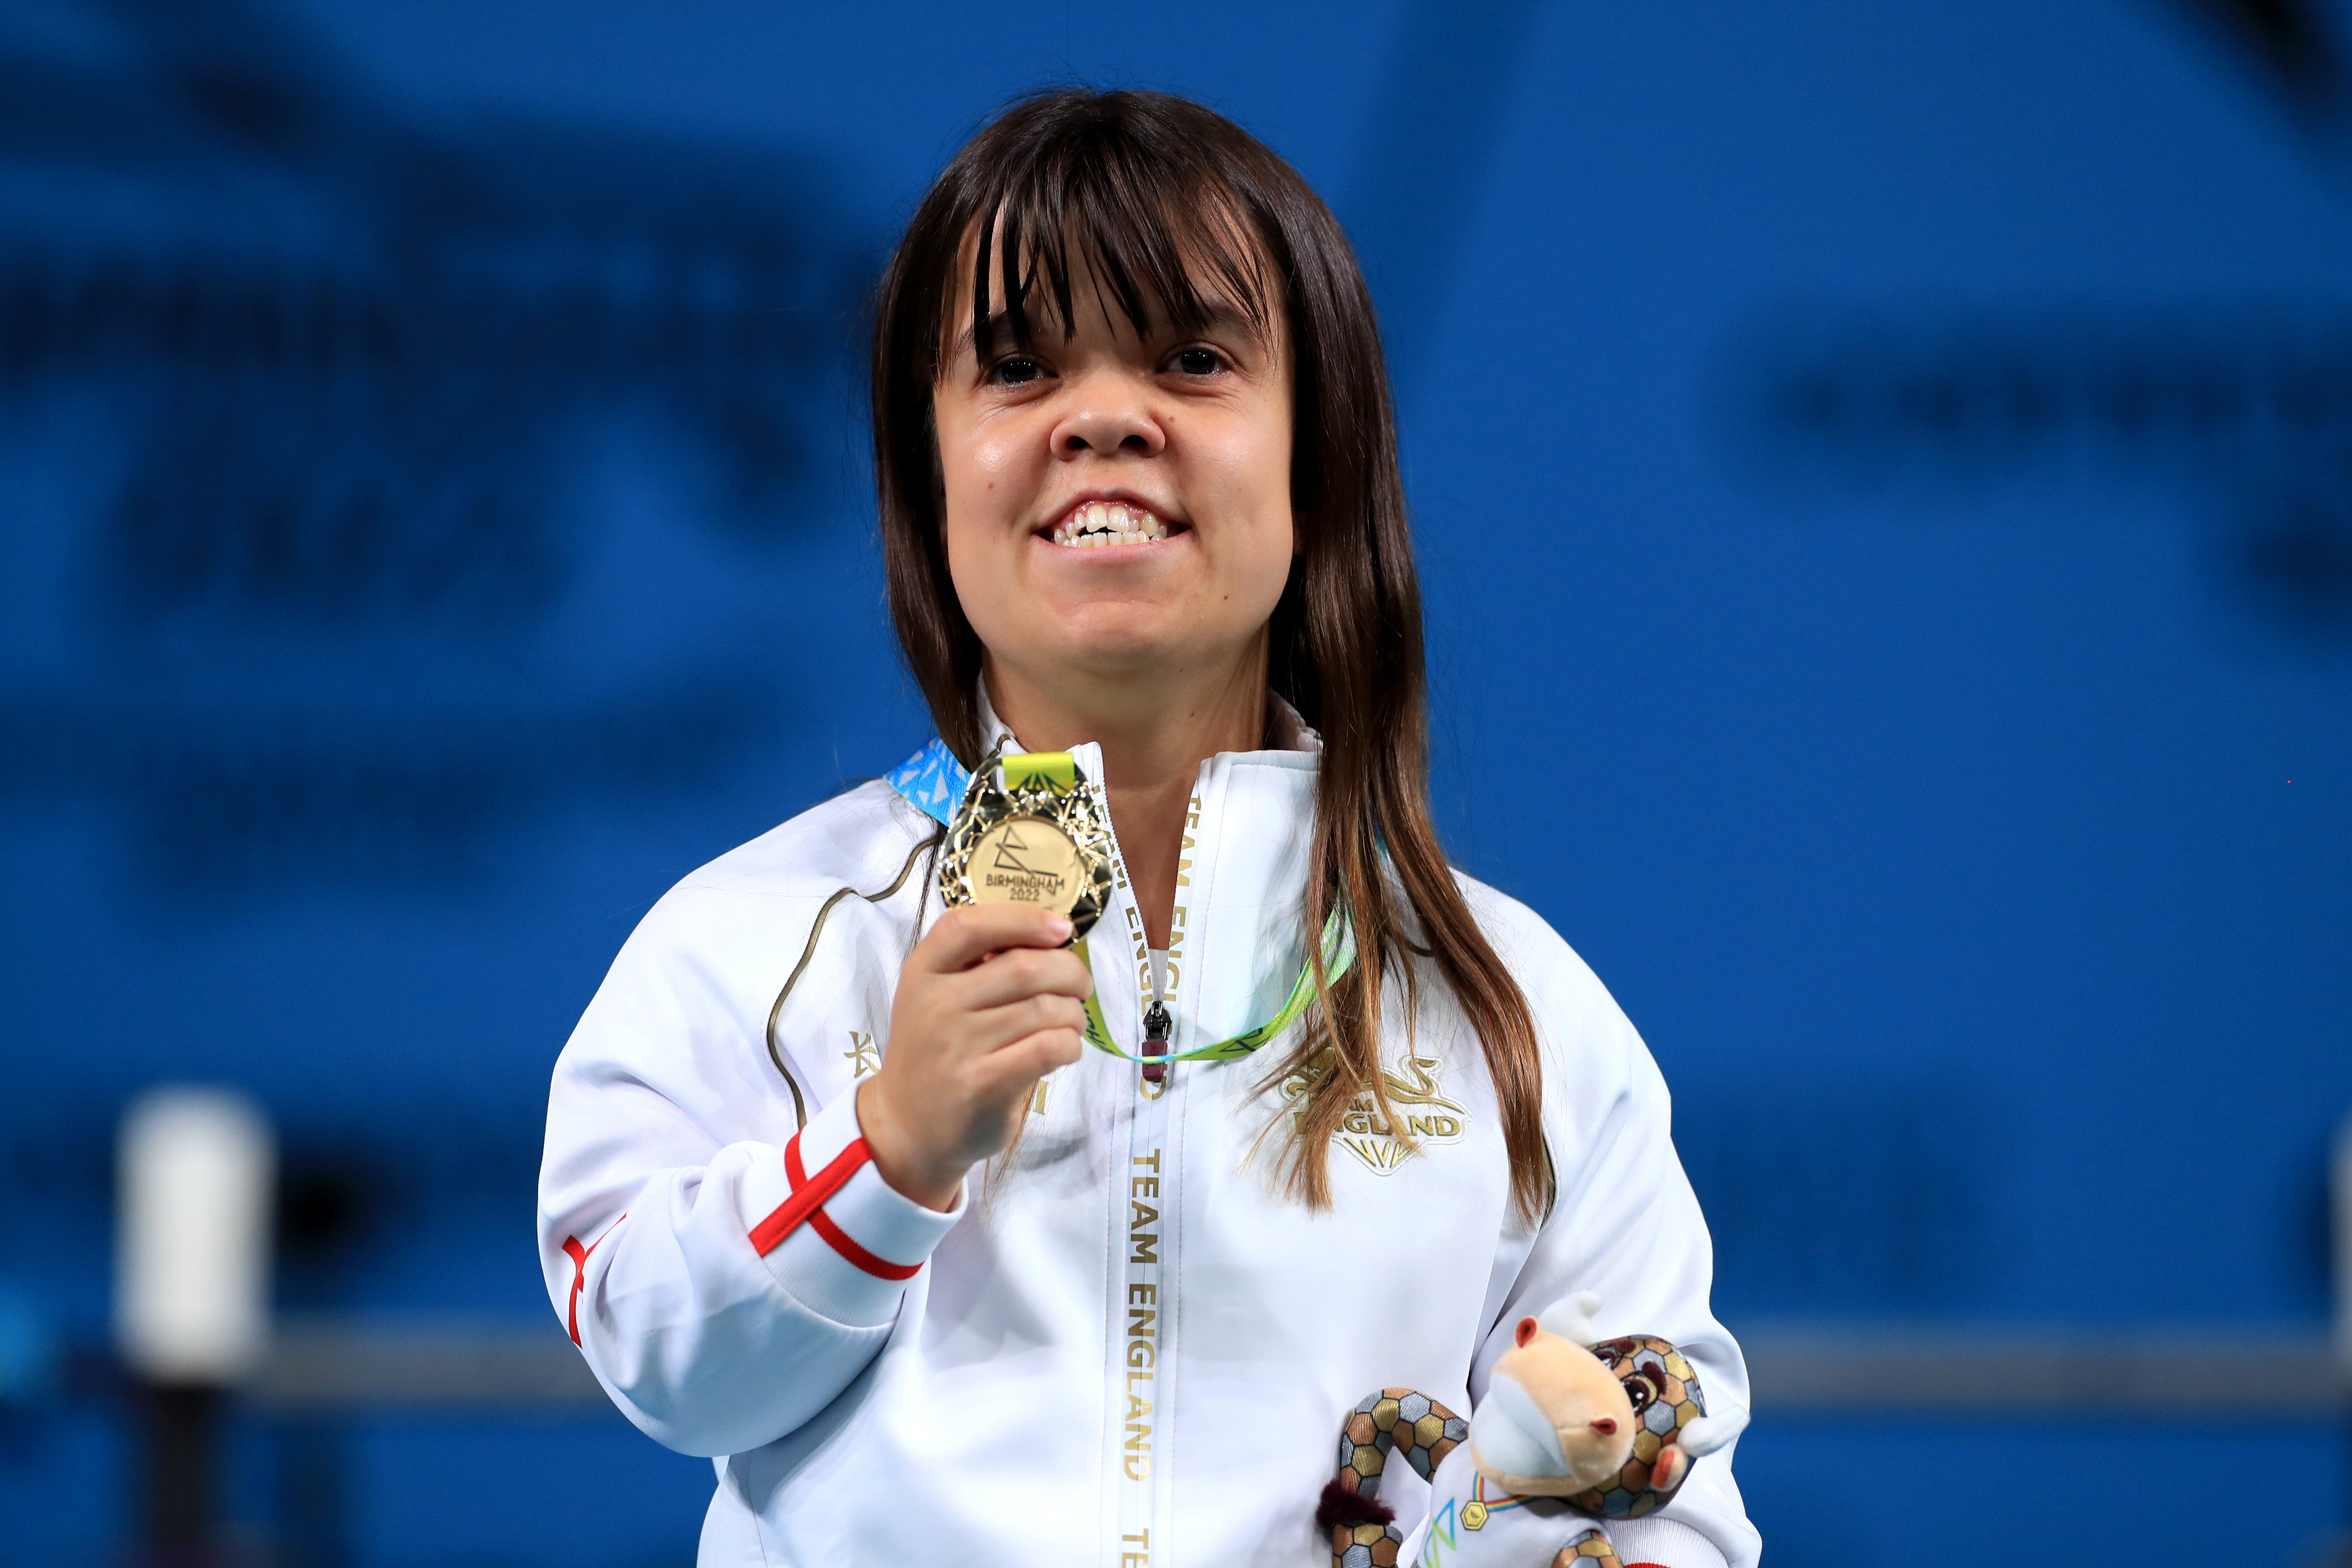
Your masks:
{"label": "woman's smiling face below her dark fringe, without hair or neck", "polygon": [[950,317],[934,414],[964,616],[990,670],[1042,693],[1240,665],[1294,550],[1279,313],[1272,341],[1240,310],[1136,331],[1073,282],[1068,339],[974,346],[969,296]]}

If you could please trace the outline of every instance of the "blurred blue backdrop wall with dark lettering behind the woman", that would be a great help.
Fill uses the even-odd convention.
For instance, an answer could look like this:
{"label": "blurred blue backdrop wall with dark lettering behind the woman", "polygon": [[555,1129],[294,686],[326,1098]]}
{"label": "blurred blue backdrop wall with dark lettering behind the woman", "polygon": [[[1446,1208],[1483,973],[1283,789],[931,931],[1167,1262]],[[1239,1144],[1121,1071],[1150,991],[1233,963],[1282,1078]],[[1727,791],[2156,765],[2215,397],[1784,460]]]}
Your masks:
{"label": "blurred blue backdrop wall with dark lettering behind the woman", "polygon": [[[546,1074],[612,952],[927,733],[863,289],[990,106],[1075,78],[1204,96],[1350,221],[1444,825],[1656,1048],[1731,1326],[2314,1326],[2345,35],[2220,0],[7,0],[0,1316],[103,1345],[120,1105],[226,1079],[285,1138],[289,1309],[546,1321]],[[122,1427],[19,1361],[0,1561],[111,1561]],[[616,1418],[240,1443],[285,1561],[684,1563],[708,1495]],[[1740,1465],[1778,1561],[2154,1556],[2241,1467],[2241,1561],[2352,1512],[2340,1434],[2098,1410],[1766,1413]]]}

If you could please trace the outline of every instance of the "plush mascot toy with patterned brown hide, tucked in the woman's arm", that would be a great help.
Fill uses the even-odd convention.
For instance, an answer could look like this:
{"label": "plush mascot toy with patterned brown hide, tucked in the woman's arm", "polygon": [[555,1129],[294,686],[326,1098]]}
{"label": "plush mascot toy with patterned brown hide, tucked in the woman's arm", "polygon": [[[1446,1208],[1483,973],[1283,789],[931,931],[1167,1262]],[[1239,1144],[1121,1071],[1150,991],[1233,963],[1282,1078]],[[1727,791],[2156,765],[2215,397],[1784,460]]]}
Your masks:
{"label": "plush mascot toy with patterned brown hide, tucked in the woman's arm", "polygon": [[[1334,1568],[1621,1568],[1609,1519],[1665,1505],[1740,1425],[1708,1418],[1698,1375],[1649,1335],[1592,1338],[1597,1295],[1519,1319],[1470,1420],[1428,1394],[1381,1389],[1338,1436],[1338,1479],[1315,1523]],[[1430,1483],[1411,1535],[1381,1502],[1402,1458]]]}

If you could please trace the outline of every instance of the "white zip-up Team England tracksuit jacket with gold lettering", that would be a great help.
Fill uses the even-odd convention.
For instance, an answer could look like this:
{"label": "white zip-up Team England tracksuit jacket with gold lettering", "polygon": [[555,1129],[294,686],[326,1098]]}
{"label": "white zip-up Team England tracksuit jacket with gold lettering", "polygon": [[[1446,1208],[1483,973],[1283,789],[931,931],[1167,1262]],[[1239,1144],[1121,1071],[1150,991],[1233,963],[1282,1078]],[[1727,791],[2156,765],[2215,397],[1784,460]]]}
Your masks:
{"label": "white zip-up Team England tracksuit jacket with gold lettering", "polygon": [[[1317,755],[1312,731],[1291,738],[1200,769],[1171,1051],[1263,1023],[1298,976]],[[1101,778],[1094,748],[1077,759]],[[1298,1084],[1263,1079],[1289,1034],[1176,1065],[1150,1098],[1131,1063],[1089,1051],[1044,1079],[1016,1159],[976,1171],[955,1213],[896,1194],[858,1164],[851,1091],[941,910],[915,853],[934,832],[870,783],[694,872],[555,1065],[548,1295],[640,1429],[715,1460],[701,1568],[1324,1568],[1312,1514],[1348,1410],[1404,1385],[1468,1415],[1512,1324],[1571,1291],[1599,1293],[1604,1335],[1682,1345],[1710,1413],[1745,1410],[1658,1067],[1566,943],[1470,879],[1543,1039],[1559,1192],[1543,1225],[1512,1211],[1479,1046],[1437,978],[1411,1027],[1397,985],[1383,1018],[1418,1152],[1350,1117],[1331,1211],[1270,1178]],[[1124,875],[1089,950],[1136,1051],[1148,966]],[[1406,1528],[1425,1507],[1411,1481],[1385,1488]],[[1748,1568],[1759,1544],[1731,1450],[1611,1537],[1665,1568]]]}

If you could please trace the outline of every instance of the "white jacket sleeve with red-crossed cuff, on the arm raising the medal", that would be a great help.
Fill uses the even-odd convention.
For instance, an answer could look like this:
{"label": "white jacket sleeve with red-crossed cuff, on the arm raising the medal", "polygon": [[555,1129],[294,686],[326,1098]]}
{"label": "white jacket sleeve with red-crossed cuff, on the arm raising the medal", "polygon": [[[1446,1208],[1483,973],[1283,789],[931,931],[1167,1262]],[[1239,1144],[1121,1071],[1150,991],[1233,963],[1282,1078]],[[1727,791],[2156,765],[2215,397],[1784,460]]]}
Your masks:
{"label": "white jacket sleeve with red-crossed cuff, on the arm raising the medal", "polygon": [[786,1436],[873,1361],[962,1199],[936,1213],[891,1190],[847,1093],[800,1131],[786,1107],[774,1143],[722,1143],[713,1126],[774,1100],[764,1041],[659,917],[555,1065],[539,1255],[621,1413],[708,1458]]}

